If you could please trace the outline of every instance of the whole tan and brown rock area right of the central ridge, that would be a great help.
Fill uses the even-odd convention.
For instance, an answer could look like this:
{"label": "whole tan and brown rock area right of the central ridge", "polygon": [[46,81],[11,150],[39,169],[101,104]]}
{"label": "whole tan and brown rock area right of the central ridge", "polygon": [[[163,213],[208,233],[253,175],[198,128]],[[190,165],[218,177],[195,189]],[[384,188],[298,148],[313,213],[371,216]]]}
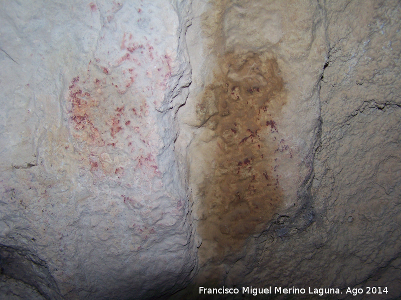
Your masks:
{"label": "whole tan and brown rock area right of the central ridge", "polygon": [[[187,294],[199,285],[340,288],[331,299],[350,297],[348,286],[387,286],[351,297],[399,297],[399,2],[196,1],[192,9],[192,84],[179,113],[200,246]],[[264,73],[261,56],[278,71]],[[261,110],[266,103],[251,103],[255,87],[275,74],[283,89],[260,88],[270,99]],[[217,96],[225,83],[246,102],[243,117]],[[244,123],[259,127],[245,132]],[[269,191],[260,179],[272,175]]]}

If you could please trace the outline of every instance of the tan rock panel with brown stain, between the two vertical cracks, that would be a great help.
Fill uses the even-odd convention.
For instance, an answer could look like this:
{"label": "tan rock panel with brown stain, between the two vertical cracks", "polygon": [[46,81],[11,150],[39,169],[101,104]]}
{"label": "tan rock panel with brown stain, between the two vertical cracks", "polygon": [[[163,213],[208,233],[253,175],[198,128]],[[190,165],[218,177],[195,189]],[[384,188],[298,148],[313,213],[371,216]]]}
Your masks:
{"label": "tan rock panel with brown stain, between the two vertical cracks", "polygon": [[305,205],[327,58],[324,15],[315,1],[197,1],[192,11],[192,84],[176,143],[190,165],[198,277],[237,284],[244,260],[255,259],[250,235]]}

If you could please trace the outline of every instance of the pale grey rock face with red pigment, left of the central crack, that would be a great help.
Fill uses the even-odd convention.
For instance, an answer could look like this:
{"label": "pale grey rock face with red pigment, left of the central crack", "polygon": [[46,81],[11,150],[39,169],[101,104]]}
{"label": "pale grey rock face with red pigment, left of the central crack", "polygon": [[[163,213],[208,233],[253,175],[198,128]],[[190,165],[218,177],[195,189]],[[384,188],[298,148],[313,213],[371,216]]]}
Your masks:
{"label": "pale grey rock face with red pigment, left of the central crack", "polygon": [[125,299],[187,280],[195,259],[173,156],[187,10],[2,2],[2,282],[49,299]]}

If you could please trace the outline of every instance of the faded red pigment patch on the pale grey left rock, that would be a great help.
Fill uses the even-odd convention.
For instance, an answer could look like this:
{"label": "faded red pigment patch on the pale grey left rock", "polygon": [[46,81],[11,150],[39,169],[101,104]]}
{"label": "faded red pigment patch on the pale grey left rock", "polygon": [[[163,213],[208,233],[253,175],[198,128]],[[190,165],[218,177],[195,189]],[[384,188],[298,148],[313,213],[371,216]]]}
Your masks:
{"label": "faded red pigment patch on the pale grey left rock", "polygon": [[[120,5],[113,3],[114,7]],[[89,7],[92,12],[99,9],[95,1],[87,6],[88,12]],[[139,9],[138,12],[140,13],[141,10]],[[113,13],[111,10],[108,13],[110,15],[106,14],[106,17],[111,20]],[[79,142],[75,143],[76,147],[69,149],[70,151],[77,148],[82,150],[81,167],[90,169],[99,177],[104,175],[101,173],[104,172],[120,178],[124,172],[128,173],[133,169],[137,171],[137,168],[145,171],[149,176],[160,175],[157,163],[148,154],[153,153],[153,145],[149,144],[147,137],[147,132],[151,130],[143,130],[149,118],[153,117],[149,115],[147,99],[139,92],[136,92],[135,99],[132,101],[131,99],[124,101],[125,97],[120,95],[132,88],[138,74],[142,72],[143,75],[144,71],[147,77],[152,78],[149,81],[156,83],[143,86],[145,89],[143,92],[148,94],[162,92],[171,76],[174,59],[166,53],[159,55],[152,42],[145,36],[140,37],[141,41],[138,41],[135,40],[137,36],[134,35],[132,32],[123,33],[119,58],[113,61],[102,61],[103,59],[97,57],[96,61],[93,60],[94,63],[89,61],[85,75],[74,77],[69,85],[67,95],[69,128],[72,136]],[[146,69],[146,65],[149,69]],[[154,65],[156,65],[155,68]],[[137,66],[140,67],[137,68]],[[159,98],[161,97],[154,98],[153,104],[157,107],[160,105]],[[122,104],[115,106],[116,103],[121,102],[124,102],[125,106]],[[129,151],[133,167],[124,170],[117,162],[106,163],[99,156],[99,153],[111,155],[116,151]],[[135,154],[138,151],[141,156]]]}

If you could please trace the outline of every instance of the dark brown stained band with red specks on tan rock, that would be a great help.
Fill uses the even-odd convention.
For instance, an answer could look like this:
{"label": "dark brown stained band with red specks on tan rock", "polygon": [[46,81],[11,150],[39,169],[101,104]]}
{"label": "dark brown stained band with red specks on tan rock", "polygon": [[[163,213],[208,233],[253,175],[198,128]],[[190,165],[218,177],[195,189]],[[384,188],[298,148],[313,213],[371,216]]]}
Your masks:
{"label": "dark brown stained band with red specks on tan rock", "polygon": [[215,262],[235,256],[282,202],[275,149],[276,117],[285,104],[278,64],[268,55],[228,53],[219,67],[196,106],[200,123],[217,139],[207,153],[214,163],[200,188],[198,226],[199,255]]}

